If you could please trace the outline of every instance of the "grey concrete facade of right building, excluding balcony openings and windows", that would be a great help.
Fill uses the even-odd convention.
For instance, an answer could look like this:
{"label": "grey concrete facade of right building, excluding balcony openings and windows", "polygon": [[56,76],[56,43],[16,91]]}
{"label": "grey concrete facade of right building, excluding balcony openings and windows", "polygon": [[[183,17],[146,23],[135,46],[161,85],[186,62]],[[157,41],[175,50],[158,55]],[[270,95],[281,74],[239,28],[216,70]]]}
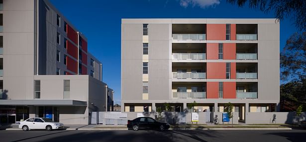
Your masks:
{"label": "grey concrete facade of right building, excluding balcony openings and windows", "polygon": [[[143,24],[148,24],[148,39],[143,35]],[[173,24],[254,24],[257,27],[257,40],[174,40]],[[280,25],[275,19],[122,19],[121,20],[121,111],[128,111],[126,106],[149,105],[156,111],[157,104],[179,103],[185,109],[188,103],[220,107],[231,102],[244,107],[248,113],[264,104],[273,104],[273,110],[279,110],[279,35]],[[206,33],[207,34],[207,33]],[[207,35],[206,35],[207,36]],[[148,42],[148,60],[143,57],[142,43]],[[202,79],[177,81],[172,77],[173,43],[254,43],[257,44],[256,60],[201,60],[183,62],[234,62],[256,63],[256,79]],[[207,52],[206,52],[207,53]],[[143,80],[143,62],[148,62],[148,81]],[[180,62],[180,61],[179,61]],[[148,82],[148,99],[143,99],[143,81]],[[172,84],[206,82],[240,82],[257,84],[258,97],[254,99],[199,99],[173,98]],[[236,89],[235,89],[236,90]],[[209,105],[208,105],[209,104]],[[250,108],[251,107],[251,108]],[[271,109],[271,105],[270,105]],[[139,109],[141,110],[141,109]],[[183,109],[181,109],[182,111]],[[217,109],[213,109],[218,112]],[[246,114],[244,114],[245,117]]]}

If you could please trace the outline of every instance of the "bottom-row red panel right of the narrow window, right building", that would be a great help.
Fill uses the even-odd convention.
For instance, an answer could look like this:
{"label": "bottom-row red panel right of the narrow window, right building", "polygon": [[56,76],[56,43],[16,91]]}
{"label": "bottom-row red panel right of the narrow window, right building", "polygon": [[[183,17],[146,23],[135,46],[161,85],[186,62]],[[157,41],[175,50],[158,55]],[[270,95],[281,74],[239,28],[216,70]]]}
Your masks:
{"label": "bottom-row red panel right of the narrow window, right building", "polygon": [[223,99],[236,98],[236,82],[223,82]]}

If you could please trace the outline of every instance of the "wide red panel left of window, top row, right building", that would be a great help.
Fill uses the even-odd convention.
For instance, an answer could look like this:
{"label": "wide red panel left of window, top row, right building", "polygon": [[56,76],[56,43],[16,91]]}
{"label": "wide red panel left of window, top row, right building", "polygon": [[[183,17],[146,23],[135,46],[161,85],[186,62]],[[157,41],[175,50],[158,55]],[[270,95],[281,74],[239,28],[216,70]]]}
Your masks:
{"label": "wide red panel left of window, top row, right building", "polygon": [[206,24],[206,40],[225,40],[226,24]]}

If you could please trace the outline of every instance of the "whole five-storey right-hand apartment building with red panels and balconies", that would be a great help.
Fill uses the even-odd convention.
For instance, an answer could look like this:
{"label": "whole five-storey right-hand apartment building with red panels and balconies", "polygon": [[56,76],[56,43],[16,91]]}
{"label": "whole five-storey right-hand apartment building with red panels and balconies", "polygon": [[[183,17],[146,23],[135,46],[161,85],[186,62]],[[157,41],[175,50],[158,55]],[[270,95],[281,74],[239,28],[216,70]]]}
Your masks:
{"label": "whole five-storey right-hand apartment building with red panels and balconies", "polygon": [[121,111],[279,110],[276,19],[122,19]]}

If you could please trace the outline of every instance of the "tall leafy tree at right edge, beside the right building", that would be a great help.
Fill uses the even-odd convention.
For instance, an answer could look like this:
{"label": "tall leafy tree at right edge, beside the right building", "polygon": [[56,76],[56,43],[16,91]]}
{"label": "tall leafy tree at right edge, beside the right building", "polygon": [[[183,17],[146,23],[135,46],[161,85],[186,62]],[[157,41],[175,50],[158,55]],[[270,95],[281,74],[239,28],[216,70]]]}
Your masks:
{"label": "tall leafy tree at right edge, beside the right building", "polygon": [[306,32],[294,33],[281,52],[282,80],[306,79]]}

